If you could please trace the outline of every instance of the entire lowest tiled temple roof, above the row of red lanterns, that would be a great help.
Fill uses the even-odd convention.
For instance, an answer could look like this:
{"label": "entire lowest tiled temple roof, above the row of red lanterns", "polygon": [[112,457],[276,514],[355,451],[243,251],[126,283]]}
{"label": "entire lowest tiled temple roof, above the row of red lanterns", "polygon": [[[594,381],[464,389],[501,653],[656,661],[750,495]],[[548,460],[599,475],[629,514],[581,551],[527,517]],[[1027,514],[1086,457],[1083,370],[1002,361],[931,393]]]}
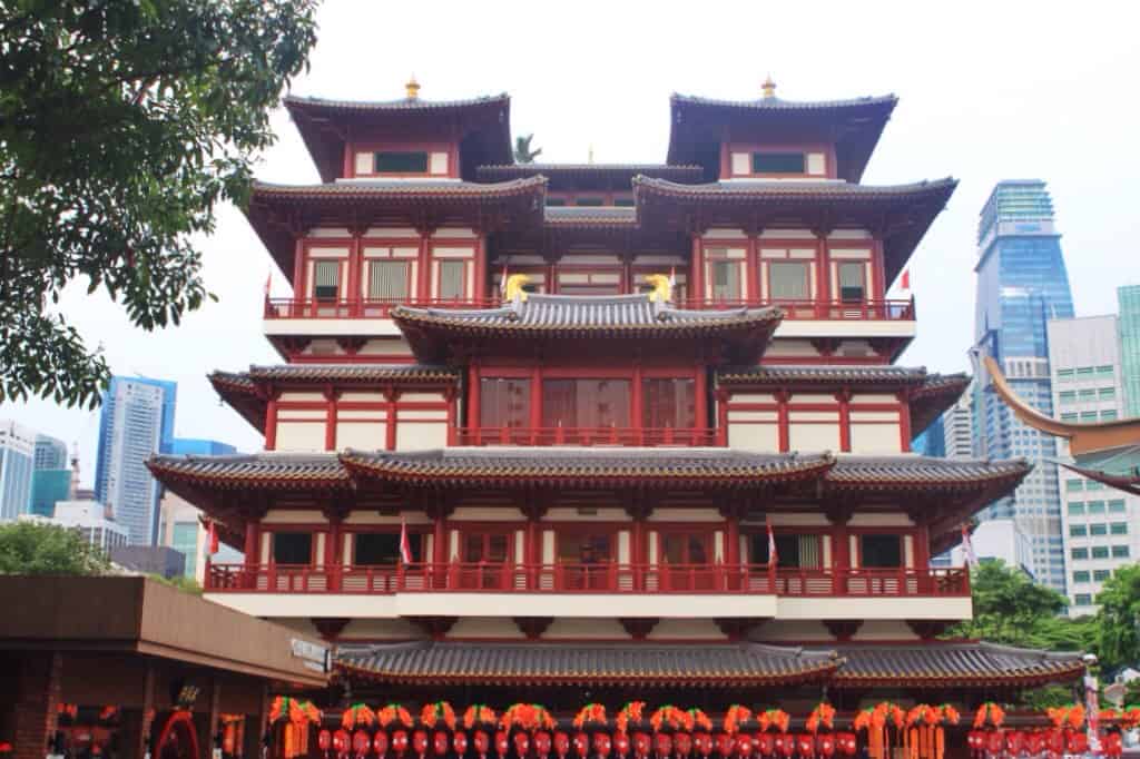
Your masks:
{"label": "entire lowest tiled temple roof, above the row of red lanterns", "polygon": [[420,685],[719,687],[828,682],[836,687],[1031,687],[1076,679],[1080,653],[978,642],[803,648],[724,644],[414,642],[342,646],[352,680]]}

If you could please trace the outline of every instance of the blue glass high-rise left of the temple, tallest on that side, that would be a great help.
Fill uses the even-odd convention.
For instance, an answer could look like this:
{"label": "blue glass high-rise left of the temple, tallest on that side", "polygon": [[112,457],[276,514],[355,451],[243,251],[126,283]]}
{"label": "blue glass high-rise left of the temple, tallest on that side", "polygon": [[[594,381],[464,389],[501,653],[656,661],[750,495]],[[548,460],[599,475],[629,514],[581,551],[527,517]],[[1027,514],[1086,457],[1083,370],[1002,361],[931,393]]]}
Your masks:
{"label": "blue glass high-rise left of the temple, tallest on that side", "polygon": [[144,377],[112,377],[103,397],[96,497],[127,527],[131,545],[155,545],[162,489],[146,459],[170,451],[178,384]]}

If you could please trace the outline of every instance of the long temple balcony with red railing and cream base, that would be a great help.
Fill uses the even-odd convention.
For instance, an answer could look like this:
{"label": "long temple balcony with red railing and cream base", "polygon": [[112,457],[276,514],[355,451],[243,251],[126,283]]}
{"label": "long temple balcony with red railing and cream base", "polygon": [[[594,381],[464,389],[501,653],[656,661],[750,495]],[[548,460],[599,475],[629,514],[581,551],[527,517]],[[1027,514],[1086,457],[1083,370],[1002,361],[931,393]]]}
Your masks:
{"label": "long temple balcony with red railing and cream base", "polygon": [[971,609],[964,569],[766,564],[213,564],[205,593],[263,617],[602,618],[620,609],[633,618],[955,620]]}

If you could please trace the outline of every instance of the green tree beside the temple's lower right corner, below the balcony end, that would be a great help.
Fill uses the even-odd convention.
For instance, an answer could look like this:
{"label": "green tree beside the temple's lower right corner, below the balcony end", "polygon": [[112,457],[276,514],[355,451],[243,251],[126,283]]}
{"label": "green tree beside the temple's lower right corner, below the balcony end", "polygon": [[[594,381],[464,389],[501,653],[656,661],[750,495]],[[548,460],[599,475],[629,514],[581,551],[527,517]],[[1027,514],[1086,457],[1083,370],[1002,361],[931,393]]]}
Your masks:
{"label": "green tree beside the temple's lower right corner, below the balcony end", "polygon": [[1003,562],[980,564],[970,573],[970,586],[974,619],[955,625],[947,637],[1059,651],[1081,651],[1092,640],[1096,626],[1089,620],[1060,617],[1065,596]]}

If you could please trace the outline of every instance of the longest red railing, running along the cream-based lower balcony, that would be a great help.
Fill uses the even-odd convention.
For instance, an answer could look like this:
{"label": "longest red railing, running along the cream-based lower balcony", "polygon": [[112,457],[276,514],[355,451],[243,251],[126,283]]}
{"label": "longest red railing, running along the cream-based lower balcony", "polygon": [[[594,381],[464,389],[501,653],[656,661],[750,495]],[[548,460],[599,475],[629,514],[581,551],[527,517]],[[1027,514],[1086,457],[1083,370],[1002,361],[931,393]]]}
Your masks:
{"label": "longest red railing, running along the cream-based lower balcony", "polygon": [[767,564],[414,563],[382,566],[211,564],[210,593],[731,594],[964,597],[964,569],[774,569]]}

